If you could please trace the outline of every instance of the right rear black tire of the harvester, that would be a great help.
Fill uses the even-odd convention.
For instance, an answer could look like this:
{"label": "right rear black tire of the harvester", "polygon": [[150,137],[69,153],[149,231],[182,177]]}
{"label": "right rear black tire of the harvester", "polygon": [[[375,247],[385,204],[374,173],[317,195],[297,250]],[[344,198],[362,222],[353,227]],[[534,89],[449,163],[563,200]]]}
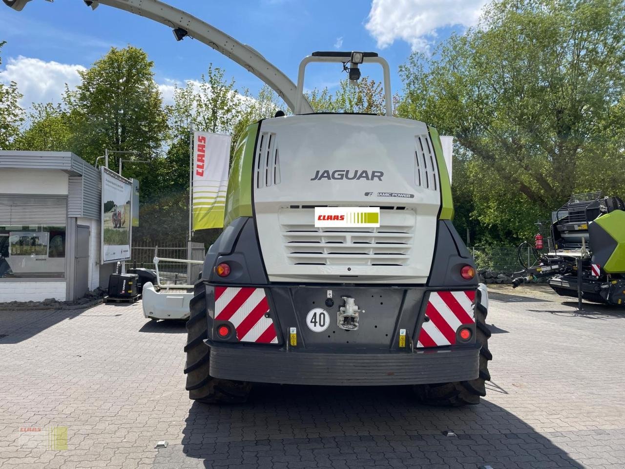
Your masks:
{"label": "right rear black tire of the harvester", "polygon": [[491,331],[486,325],[488,311],[477,303],[476,313],[476,340],[481,343],[479,351],[479,376],[470,381],[456,381],[454,383],[435,383],[431,385],[414,386],[417,399],[426,405],[460,407],[479,404],[479,398],[486,396],[486,381],[491,380],[488,372],[488,362],[492,360],[488,350],[488,339]]}

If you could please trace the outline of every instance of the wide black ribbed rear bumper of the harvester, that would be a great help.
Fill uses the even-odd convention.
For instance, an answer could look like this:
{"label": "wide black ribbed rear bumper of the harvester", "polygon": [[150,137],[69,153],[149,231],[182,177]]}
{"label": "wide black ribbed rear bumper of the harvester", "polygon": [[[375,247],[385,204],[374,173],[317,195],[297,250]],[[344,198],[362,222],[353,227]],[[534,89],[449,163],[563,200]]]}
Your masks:
{"label": "wide black ribbed rear bumper of the harvester", "polygon": [[227,380],[292,385],[384,386],[473,380],[481,345],[386,353],[316,353],[214,343],[210,375]]}

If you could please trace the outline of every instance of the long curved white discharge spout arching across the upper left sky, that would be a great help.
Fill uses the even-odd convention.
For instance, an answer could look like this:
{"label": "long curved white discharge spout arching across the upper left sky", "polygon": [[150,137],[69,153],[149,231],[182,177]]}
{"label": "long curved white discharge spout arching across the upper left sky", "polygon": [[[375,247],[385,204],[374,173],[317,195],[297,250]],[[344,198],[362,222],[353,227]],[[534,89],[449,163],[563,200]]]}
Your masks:
{"label": "long curved white discharge spout arching across the upper left sky", "polygon": [[[30,0],[3,1],[12,9],[21,11]],[[157,21],[173,28],[174,36],[178,41],[186,36],[197,39],[256,75],[276,91],[289,109],[295,112],[297,87],[291,79],[256,50],[247,44],[240,43],[211,24],[158,0],[84,0],[84,3],[93,9],[103,4]],[[312,113],[312,108],[306,98],[300,98],[299,109],[301,113]]]}

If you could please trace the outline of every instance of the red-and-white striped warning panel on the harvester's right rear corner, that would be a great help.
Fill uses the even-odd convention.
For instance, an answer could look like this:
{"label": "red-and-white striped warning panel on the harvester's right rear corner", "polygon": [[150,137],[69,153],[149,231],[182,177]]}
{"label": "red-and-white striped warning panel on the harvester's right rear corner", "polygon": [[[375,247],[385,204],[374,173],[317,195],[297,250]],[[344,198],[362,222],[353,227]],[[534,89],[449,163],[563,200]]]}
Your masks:
{"label": "red-and-white striped warning panel on the harvester's right rear corner", "polygon": [[421,326],[417,348],[454,345],[457,328],[475,322],[474,301],[475,290],[432,291],[426,307],[429,321]]}

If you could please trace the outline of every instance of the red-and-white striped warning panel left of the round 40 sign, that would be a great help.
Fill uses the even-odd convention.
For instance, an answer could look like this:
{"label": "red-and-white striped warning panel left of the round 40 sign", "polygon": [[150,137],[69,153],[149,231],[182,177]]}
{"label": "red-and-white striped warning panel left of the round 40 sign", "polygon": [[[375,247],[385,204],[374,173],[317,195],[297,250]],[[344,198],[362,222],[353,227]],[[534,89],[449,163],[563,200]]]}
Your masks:
{"label": "red-and-white striped warning panel left of the round 40 sign", "polygon": [[241,342],[277,343],[263,288],[215,287],[215,320],[230,321]]}

